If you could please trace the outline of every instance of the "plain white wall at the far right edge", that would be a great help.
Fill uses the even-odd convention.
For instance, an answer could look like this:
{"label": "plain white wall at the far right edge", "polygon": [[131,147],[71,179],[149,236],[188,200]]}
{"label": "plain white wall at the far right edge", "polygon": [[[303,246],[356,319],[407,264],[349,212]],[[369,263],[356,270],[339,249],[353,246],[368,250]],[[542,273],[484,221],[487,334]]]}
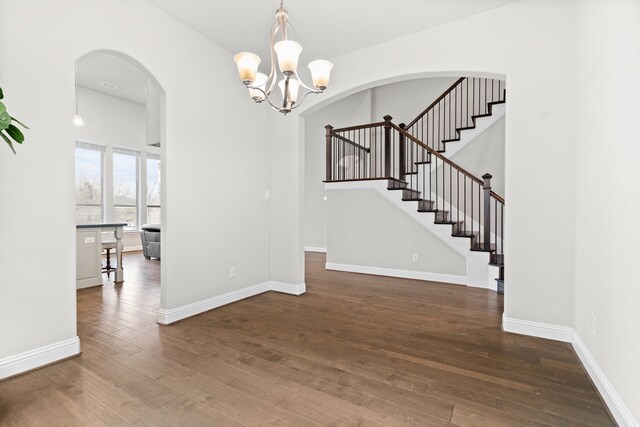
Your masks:
{"label": "plain white wall at the far right edge", "polygon": [[581,1],[577,19],[574,328],[638,425],[640,3]]}

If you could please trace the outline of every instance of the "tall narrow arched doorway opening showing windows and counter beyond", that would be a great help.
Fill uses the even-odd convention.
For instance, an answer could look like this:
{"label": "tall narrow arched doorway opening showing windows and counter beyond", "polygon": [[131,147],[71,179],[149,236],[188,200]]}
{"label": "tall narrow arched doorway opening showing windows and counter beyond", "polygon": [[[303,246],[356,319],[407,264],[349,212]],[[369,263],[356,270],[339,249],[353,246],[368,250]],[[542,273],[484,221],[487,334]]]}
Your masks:
{"label": "tall narrow arched doorway opening showing windows and counter beyond", "polygon": [[[75,70],[76,223],[86,226],[76,233],[76,287],[104,285],[103,301],[116,308],[134,289],[159,305],[164,90],[139,61],[117,51],[86,53]],[[120,244],[122,264],[115,254]],[[82,292],[89,290],[78,300]]]}

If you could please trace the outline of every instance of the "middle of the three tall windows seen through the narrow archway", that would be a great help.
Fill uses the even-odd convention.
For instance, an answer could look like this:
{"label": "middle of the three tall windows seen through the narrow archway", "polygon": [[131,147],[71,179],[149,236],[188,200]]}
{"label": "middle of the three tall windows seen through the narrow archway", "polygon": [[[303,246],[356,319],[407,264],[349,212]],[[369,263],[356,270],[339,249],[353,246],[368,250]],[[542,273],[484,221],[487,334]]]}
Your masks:
{"label": "middle of the three tall windows seen through the narrow archway", "polygon": [[113,149],[113,222],[124,222],[125,230],[138,227],[138,167],[140,153]]}

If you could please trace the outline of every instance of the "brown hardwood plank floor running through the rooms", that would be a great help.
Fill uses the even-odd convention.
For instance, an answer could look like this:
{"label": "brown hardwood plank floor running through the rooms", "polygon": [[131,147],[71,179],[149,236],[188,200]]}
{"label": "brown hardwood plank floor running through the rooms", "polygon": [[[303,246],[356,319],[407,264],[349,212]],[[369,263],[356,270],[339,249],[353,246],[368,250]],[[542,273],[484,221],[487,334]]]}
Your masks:
{"label": "brown hardwood plank floor running through the rooms", "polygon": [[0,382],[0,424],[615,425],[564,343],[503,333],[502,297],[324,270],[155,323],[158,261],[78,292],[83,353]]}

